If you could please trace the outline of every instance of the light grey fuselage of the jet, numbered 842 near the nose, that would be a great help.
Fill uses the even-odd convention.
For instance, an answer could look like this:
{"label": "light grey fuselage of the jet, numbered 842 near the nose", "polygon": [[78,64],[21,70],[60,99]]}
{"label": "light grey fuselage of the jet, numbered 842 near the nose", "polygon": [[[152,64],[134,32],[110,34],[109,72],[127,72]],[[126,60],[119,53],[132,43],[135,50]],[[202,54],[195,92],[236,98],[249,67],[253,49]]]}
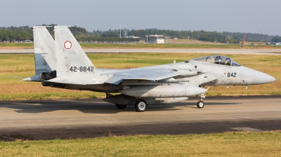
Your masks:
{"label": "light grey fuselage of the jet, numbered 842 near the nose", "polygon": [[126,80],[118,85],[102,83],[97,85],[74,85],[67,84],[66,89],[70,90],[91,90],[104,93],[119,93],[124,89],[124,86],[159,86],[169,84],[173,85],[188,85],[188,86],[228,86],[228,85],[256,85],[263,83],[270,83],[276,81],[272,76],[261,71],[256,71],[243,66],[230,66],[228,64],[214,64],[210,62],[199,62],[190,60],[187,62],[178,62],[172,64],[157,65],[152,67],[141,67],[135,69],[97,69],[98,74],[103,76],[103,81],[106,81],[114,74],[124,74],[126,72],[149,71],[150,69],[159,69],[163,71],[178,72],[182,69],[189,69],[190,71],[201,71],[194,76],[185,76],[179,73],[171,79],[165,81],[136,81]]}

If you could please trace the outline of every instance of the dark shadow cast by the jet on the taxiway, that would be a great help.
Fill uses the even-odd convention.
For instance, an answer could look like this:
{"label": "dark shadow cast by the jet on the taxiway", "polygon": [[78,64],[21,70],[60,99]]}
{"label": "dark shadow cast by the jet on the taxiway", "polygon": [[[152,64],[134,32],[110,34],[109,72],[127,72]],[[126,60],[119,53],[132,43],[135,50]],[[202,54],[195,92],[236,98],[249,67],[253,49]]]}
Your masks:
{"label": "dark shadow cast by the jet on the taxiway", "polygon": [[[228,105],[228,104],[240,104],[240,103],[226,103],[226,102],[209,102],[205,105]],[[160,104],[149,105],[146,111],[176,111],[181,110],[177,107],[189,107],[197,109],[196,102],[178,102],[175,104]],[[125,109],[117,109],[115,104],[107,102],[84,102],[79,100],[70,102],[58,102],[58,101],[22,101],[22,102],[0,102],[0,108],[15,109],[17,113],[44,113],[51,111],[67,111],[77,110],[85,114],[117,114],[119,112],[136,111],[134,105],[128,105]]]}

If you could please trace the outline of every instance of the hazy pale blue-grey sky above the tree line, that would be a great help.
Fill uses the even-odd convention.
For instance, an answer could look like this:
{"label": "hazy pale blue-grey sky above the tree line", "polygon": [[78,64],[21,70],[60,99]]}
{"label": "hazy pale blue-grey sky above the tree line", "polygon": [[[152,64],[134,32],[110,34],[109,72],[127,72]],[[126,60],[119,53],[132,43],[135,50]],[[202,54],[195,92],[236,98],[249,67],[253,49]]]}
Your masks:
{"label": "hazy pale blue-grey sky above the tree line", "polygon": [[57,24],[94,29],[173,29],[281,36],[281,1],[3,1],[0,26]]}

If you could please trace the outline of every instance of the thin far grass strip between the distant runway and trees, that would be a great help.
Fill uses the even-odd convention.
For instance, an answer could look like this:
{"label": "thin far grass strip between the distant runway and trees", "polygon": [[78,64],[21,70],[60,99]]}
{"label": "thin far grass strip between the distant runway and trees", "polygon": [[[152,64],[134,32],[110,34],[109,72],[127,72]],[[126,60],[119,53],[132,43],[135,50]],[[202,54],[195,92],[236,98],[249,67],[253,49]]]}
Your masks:
{"label": "thin far grass strip between the distant runway and trees", "polygon": [[[190,41],[191,42],[191,41]],[[199,44],[197,44],[199,43]],[[214,44],[203,41],[192,41],[192,43],[81,43],[82,48],[234,48],[238,49],[242,45]],[[0,43],[0,49],[22,49],[34,48],[33,43]],[[266,46],[264,43],[260,45],[246,45],[246,49],[265,49],[265,48],[281,48],[281,46]]]}

